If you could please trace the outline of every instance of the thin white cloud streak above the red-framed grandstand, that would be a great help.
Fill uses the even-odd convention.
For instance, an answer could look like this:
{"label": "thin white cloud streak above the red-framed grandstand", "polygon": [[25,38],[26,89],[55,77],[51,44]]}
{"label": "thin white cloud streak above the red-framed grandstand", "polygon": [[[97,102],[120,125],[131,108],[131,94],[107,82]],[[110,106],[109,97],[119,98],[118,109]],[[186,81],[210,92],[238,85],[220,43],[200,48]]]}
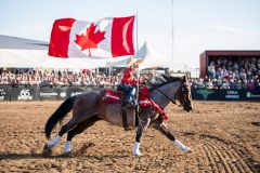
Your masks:
{"label": "thin white cloud streak above the red-framed grandstand", "polygon": [[204,28],[210,29],[212,31],[220,31],[220,32],[225,32],[225,34],[233,34],[233,35],[238,35],[238,36],[260,36],[260,31],[255,31],[255,30],[246,30],[246,29],[240,29],[240,28],[235,28],[232,26],[226,26],[222,24],[205,24]]}

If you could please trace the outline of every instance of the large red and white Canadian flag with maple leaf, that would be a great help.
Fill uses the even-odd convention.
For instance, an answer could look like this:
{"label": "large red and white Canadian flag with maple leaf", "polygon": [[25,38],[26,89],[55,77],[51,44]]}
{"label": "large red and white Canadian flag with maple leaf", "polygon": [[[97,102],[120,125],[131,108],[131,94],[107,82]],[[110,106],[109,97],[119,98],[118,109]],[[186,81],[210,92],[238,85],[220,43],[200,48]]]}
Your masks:
{"label": "large red and white Canadian flag with maple leaf", "polygon": [[56,19],[49,55],[65,58],[133,55],[133,24],[134,16],[107,17],[96,23]]}

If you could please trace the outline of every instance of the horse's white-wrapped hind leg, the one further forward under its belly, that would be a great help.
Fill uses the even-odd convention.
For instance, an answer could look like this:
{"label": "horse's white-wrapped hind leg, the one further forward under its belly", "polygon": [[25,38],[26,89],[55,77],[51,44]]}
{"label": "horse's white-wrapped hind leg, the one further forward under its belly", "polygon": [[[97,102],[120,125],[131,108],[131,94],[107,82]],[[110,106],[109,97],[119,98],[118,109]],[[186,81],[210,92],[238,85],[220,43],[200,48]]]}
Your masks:
{"label": "horse's white-wrapped hind leg, the one further forward under its belly", "polygon": [[99,120],[101,120],[99,117],[96,117],[96,116],[92,117],[88,120],[84,120],[83,122],[80,122],[79,124],[77,124],[77,127],[75,127],[74,129],[68,131],[67,141],[66,141],[65,147],[64,147],[65,154],[70,152],[70,144],[72,144],[73,137],[82,133],[86,129],[92,127]]}

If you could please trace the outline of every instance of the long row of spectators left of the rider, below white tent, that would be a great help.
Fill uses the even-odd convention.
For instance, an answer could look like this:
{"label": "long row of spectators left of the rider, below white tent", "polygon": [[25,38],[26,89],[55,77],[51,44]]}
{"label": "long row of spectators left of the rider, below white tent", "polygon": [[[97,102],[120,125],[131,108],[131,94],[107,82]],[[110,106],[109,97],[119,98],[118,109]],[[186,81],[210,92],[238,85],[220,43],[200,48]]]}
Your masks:
{"label": "long row of spectators left of the rider, below white tent", "polygon": [[109,76],[92,70],[49,71],[49,70],[0,70],[0,84],[37,86],[87,86],[116,85],[119,76]]}

